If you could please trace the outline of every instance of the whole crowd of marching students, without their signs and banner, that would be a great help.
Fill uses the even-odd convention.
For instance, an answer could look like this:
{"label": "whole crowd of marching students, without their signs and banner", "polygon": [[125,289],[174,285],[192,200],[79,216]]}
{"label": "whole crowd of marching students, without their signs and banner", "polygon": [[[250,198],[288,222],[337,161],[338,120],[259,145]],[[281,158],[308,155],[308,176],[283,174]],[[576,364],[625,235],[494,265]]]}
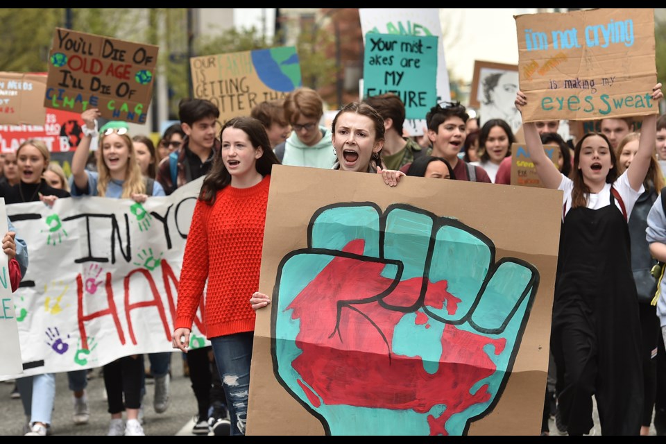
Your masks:
{"label": "whole crowd of marching students, without their signs and banner", "polygon": [[[650,94],[655,102],[663,99],[661,85]],[[520,112],[526,104],[519,91],[515,108]],[[81,115],[84,137],[71,178],[50,162],[39,141],[28,140],[4,156],[0,192],[6,203],[53,205],[69,196],[145,202],[205,177],[185,247],[172,336],[173,348],[185,352],[196,398],[195,434],[246,430],[255,310],[270,303],[257,289],[273,165],[374,173],[389,187],[409,180],[405,176],[510,183],[511,125],[470,119],[460,103],[434,104],[421,143],[403,134],[405,109],[395,94],[348,103],[330,128],[322,125],[323,114],[321,96],[300,87],[219,128],[213,103],[185,99],[180,123],[155,146],[144,135],[130,137],[124,122],[98,128],[101,114],[93,108]],[[648,434],[655,403],[657,410],[659,402],[666,403],[656,396],[660,371],[666,372],[656,364],[660,330],[666,334],[666,302],[654,298],[657,284],[650,275],[657,261],[666,261],[660,199],[666,116],[644,116],[640,132],[630,119],[603,119],[600,133],[581,135],[575,144],[557,134],[558,121],[522,128],[543,186],[564,196],[542,430],[547,434],[548,415],[556,413],[558,428],[568,434],[590,432],[594,395],[604,434]],[[90,152],[95,143],[96,154]],[[560,148],[557,164],[543,144]],[[29,242],[29,233],[19,234]],[[3,248],[20,258],[19,238],[15,243],[13,236],[3,239]],[[212,345],[191,350],[191,327],[204,292],[205,334]],[[157,413],[169,407],[171,355],[148,357]],[[74,421],[85,423],[85,370],[70,374]],[[109,435],[144,434],[145,375],[141,355],[103,367]],[[29,418],[26,434],[49,434],[53,375],[19,379],[18,386]]]}

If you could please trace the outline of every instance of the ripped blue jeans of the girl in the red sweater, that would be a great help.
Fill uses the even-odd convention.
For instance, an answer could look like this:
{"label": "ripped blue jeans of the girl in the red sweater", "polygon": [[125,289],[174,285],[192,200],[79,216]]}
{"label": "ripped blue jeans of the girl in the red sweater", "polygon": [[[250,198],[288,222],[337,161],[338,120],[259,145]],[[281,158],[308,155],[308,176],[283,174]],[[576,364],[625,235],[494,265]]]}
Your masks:
{"label": "ripped blue jeans of the girl in the red sweater", "polygon": [[227,398],[232,435],[245,434],[253,341],[254,332],[229,334],[210,339]]}

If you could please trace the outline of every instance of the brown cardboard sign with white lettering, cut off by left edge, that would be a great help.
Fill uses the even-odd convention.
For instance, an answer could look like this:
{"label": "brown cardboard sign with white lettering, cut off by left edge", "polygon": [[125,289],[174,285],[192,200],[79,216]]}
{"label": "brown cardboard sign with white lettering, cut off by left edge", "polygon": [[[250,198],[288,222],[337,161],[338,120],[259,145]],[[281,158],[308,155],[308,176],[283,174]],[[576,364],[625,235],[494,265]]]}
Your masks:
{"label": "brown cardboard sign with white lettering, cut off by left edge", "polygon": [[0,72],[0,124],[44,125],[46,76]]}

